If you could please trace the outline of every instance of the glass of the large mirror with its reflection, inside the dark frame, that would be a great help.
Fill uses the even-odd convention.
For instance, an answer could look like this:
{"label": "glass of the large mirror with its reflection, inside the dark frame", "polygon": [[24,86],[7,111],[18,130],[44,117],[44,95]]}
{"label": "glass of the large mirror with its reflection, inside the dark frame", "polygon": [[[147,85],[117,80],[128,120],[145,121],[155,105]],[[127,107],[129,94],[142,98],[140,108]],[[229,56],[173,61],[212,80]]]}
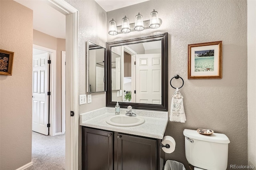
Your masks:
{"label": "glass of the large mirror with its reflection, inside the dark frame", "polygon": [[[119,91],[118,98],[115,93],[112,93],[112,101],[161,105],[161,40],[120,45],[112,47],[111,51],[121,51],[118,60],[115,60],[116,71],[113,72],[112,69],[112,91],[119,89],[124,91],[121,95]],[[121,56],[122,63],[120,63]],[[113,62],[116,55],[113,55],[112,52],[111,57]],[[122,74],[120,74],[120,70],[123,70]],[[120,75],[121,88],[116,86],[120,85]],[[116,83],[114,83],[114,79],[116,79]],[[116,100],[113,100],[115,98]]]}

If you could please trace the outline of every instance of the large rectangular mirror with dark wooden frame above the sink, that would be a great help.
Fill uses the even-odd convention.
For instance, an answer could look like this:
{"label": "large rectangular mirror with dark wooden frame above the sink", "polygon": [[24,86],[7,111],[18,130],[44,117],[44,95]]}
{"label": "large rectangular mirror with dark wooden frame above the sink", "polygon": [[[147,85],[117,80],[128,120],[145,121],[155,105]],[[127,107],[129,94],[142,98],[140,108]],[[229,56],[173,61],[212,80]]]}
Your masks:
{"label": "large rectangular mirror with dark wooden frame above the sink", "polygon": [[107,42],[106,106],[168,111],[167,33]]}

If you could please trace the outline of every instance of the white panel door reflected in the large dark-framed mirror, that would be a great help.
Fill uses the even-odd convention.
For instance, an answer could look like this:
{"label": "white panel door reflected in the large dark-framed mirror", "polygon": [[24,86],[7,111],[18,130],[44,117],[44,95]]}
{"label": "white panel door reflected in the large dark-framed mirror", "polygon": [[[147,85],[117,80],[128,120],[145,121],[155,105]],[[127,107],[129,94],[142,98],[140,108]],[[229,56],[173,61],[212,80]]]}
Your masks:
{"label": "white panel door reflected in the large dark-framed mirror", "polygon": [[161,54],[136,55],[136,103],[162,104]]}

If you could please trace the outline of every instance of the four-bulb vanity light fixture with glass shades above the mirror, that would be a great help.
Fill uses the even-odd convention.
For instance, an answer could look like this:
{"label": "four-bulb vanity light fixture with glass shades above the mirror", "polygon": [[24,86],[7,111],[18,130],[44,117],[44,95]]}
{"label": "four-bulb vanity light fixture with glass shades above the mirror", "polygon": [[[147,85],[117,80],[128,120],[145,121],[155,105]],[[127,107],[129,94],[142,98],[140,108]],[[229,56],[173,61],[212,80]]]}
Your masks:
{"label": "four-bulb vanity light fixture with glass shades above the mirror", "polygon": [[[135,16],[135,23],[130,24],[129,19],[126,16],[124,16],[124,18],[122,19],[122,26],[116,27],[116,22],[114,21],[114,19],[112,19],[109,22],[108,34],[115,36],[117,34],[126,34],[132,31],[142,31],[148,28],[156,29],[159,28],[161,24],[162,20],[158,18],[158,12],[153,10],[153,12],[150,13],[150,20],[146,21],[143,21],[142,15],[138,13],[138,15]],[[121,29],[121,31],[118,31],[118,28],[119,30]]]}

